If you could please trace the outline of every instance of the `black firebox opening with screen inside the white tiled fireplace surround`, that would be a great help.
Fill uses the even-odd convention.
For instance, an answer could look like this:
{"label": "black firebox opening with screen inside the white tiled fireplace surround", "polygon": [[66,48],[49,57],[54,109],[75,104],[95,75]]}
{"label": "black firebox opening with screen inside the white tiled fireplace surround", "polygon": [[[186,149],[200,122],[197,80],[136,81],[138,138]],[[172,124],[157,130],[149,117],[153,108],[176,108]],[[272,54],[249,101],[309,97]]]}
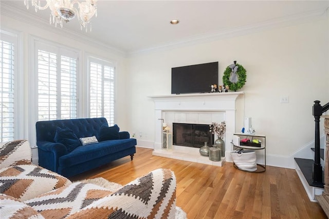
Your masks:
{"label": "black firebox opening with screen inside the white tiled fireplace surround", "polygon": [[209,124],[173,123],[173,144],[191,148],[201,148],[208,142],[213,144],[213,134]]}

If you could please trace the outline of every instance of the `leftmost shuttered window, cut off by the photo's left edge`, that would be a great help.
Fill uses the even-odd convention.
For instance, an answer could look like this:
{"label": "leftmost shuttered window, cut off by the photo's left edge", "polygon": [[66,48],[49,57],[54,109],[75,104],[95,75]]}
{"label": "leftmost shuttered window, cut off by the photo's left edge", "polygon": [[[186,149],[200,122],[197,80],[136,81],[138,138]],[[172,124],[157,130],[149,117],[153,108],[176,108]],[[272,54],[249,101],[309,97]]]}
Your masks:
{"label": "leftmost shuttered window, cut off by the photo's left edge", "polygon": [[23,89],[17,89],[22,85],[17,59],[18,35],[3,30],[0,33],[0,142],[7,142],[22,137],[17,121],[22,107],[19,102],[23,102],[19,94]]}

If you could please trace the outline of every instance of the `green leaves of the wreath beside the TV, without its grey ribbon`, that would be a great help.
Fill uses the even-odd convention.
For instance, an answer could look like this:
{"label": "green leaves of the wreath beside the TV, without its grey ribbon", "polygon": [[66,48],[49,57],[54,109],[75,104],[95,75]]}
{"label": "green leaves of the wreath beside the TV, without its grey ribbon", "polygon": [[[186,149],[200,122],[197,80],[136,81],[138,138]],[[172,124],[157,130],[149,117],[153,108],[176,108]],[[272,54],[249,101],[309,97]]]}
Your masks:
{"label": "green leaves of the wreath beside the TV, without its grey ribbon", "polygon": [[234,91],[242,88],[243,85],[245,85],[246,79],[247,79],[246,69],[240,64],[235,64],[235,65],[239,66],[239,68],[237,68],[237,71],[236,71],[236,75],[237,75],[237,82],[236,83],[232,83],[230,81],[230,75],[231,75],[231,72],[232,72],[232,69],[230,68],[230,66],[226,67],[226,69],[224,71],[224,76],[223,76],[224,86],[228,85],[229,89],[234,90]]}

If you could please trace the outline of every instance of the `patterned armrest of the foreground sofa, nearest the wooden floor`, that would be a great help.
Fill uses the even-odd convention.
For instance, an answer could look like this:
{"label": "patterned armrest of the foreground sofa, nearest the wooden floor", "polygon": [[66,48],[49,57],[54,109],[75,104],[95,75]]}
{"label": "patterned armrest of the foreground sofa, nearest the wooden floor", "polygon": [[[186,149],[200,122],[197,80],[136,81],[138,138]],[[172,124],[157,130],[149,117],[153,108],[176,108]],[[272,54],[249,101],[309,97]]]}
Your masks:
{"label": "patterned armrest of the foreground sofa, nearest the wooden floor", "polygon": [[175,218],[176,177],[157,169],[67,218]]}

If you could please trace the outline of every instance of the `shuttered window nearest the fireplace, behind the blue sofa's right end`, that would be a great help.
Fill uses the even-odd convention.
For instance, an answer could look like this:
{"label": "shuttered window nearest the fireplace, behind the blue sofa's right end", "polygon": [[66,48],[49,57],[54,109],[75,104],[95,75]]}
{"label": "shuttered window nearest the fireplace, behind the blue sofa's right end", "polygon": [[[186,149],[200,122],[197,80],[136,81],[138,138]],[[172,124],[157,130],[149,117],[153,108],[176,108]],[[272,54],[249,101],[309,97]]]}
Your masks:
{"label": "shuttered window nearest the fireplace, behind the blue sofa's right end", "polygon": [[89,116],[105,117],[114,124],[115,67],[106,61],[89,58]]}

